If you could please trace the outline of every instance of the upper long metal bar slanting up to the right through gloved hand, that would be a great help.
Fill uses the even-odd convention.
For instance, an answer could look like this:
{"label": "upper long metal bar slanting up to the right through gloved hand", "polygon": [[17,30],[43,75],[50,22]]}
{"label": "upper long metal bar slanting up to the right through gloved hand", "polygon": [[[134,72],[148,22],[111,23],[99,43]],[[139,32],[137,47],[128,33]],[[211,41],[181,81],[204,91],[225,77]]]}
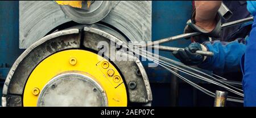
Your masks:
{"label": "upper long metal bar slanting up to the right through gloved hand", "polygon": [[[251,16],[249,18],[240,19],[240,20],[231,21],[229,23],[222,24],[221,27],[222,28],[230,27],[230,26],[233,26],[233,25],[238,25],[238,24],[245,23],[247,21],[252,21],[252,20],[253,20],[253,16]],[[180,34],[180,35],[173,36],[173,37],[163,38],[162,40],[153,41],[153,42],[147,43],[146,45],[142,45],[142,46],[139,46],[139,47],[153,46],[155,44],[161,44],[161,43],[165,43],[165,42],[176,41],[176,40],[180,40],[181,38],[193,37],[193,36],[197,36],[199,34],[201,34],[201,33],[200,32],[193,32],[193,33]]]}

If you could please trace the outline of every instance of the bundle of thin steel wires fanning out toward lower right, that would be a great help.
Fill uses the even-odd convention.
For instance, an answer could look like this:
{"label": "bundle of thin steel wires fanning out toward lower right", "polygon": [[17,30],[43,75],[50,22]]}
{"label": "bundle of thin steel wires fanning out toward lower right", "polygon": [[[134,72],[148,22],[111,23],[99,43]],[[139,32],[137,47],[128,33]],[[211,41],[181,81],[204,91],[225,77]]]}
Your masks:
{"label": "bundle of thin steel wires fanning out toward lower right", "polygon": [[[164,56],[153,54],[150,51],[147,51],[146,49],[143,49],[143,48],[134,48],[133,46],[132,48],[128,47],[128,50],[133,52],[134,54],[137,54],[143,58],[148,59],[149,61],[152,61],[162,66],[163,68],[167,69],[172,74],[174,74],[175,76],[179,77],[181,80],[187,82],[189,85],[192,85],[196,89],[203,91],[203,93],[208,94],[211,97],[214,97],[215,93],[201,87],[195,82],[192,82],[191,80],[186,78],[187,76],[184,76],[184,75],[188,75],[193,78],[199,79],[201,81],[206,81],[206,82],[209,82],[210,84],[220,86],[221,88],[224,88],[230,93],[236,94],[236,97],[229,95],[227,100],[243,103],[243,90],[241,89],[241,82],[230,82],[223,77],[214,75],[213,73],[200,71],[200,69],[197,67],[188,66],[183,63],[177,62],[175,60],[168,59]],[[123,53],[125,53],[125,51],[123,51]]]}

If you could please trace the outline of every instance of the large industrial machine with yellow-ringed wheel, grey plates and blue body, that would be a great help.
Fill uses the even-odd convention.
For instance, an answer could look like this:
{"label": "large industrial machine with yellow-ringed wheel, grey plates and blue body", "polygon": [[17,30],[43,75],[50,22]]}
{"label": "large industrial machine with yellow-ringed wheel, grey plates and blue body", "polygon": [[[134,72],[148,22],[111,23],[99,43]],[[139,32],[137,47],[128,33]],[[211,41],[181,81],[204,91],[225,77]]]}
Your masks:
{"label": "large industrial machine with yellow-ringed wheel, grey plates and blue body", "polygon": [[[2,106],[213,106],[167,69],[120,51],[183,33],[191,1],[1,1],[0,9]],[[159,55],[176,60],[170,50]]]}

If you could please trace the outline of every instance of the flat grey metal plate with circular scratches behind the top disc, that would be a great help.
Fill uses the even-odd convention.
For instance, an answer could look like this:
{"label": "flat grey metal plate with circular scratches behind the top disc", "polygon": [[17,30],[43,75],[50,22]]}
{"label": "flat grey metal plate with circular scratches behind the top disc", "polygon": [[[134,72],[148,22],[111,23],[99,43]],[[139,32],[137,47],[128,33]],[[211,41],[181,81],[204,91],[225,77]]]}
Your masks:
{"label": "flat grey metal plate with circular scratches behind the top disc", "polygon": [[[113,2],[112,10],[101,21],[120,30],[130,41],[150,41],[151,1]],[[26,49],[68,21],[71,19],[52,1],[19,1],[19,48]]]}

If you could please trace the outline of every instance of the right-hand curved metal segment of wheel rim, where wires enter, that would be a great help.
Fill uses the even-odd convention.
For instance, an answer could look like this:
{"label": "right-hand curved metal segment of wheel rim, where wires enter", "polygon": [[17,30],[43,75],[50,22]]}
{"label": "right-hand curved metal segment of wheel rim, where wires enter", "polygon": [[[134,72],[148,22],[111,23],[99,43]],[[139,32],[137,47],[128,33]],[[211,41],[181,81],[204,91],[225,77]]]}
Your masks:
{"label": "right-hand curved metal segment of wheel rim, where wires enter", "polygon": [[[121,40],[125,40],[125,38],[118,39],[115,36],[112,36],[111,34],[104,32],[104,30],[98,30],[93,27],[85,27],[84,30],[86,32],[83,45],[96,51],[100,50],[97,48],[97,44],[100,41],[106,41],[110,44],[110,41],[119,42]],[[110,47],[108,48],[110,49]],[[115,54],[118,56],[117,53]],[[122,54],[123,58],[126,58],[127,56],[128,54]],[[150,103],[152,100],[152,94],[146,72],[144,71],[144,68],[139,59],[135,58],[134,56],[131,56],[131,58],[133,58],[136,61],[134,62],[114,60],[113,62],[117,65],[118,69],[125,77],[126,85],[128,85],[130,81],[135,81],[137,83],[137,88],[135,88],[134,90],[128,89],[130,102]],[[136,75],[136,70],[138,68],[142,73],[142,77]]]}

